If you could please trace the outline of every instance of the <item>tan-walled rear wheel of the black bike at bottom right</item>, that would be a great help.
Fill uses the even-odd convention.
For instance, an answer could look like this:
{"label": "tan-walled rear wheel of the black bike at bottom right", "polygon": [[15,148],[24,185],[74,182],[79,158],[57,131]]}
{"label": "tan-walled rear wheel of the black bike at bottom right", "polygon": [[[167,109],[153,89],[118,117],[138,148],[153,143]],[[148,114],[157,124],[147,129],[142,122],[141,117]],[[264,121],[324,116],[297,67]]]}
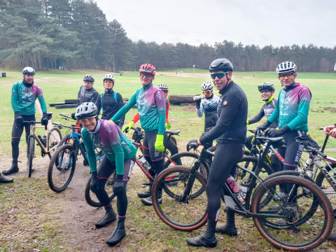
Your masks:
{"label": "tan-walled rear wheel of the black bike at bottom right", "polygon": [[[253,214],[262,214],[262,209],[265,208],[265,206],[261,206],[260,202],[263,195],[267,193],[267,189],[274,187],[279,188],[279,185],[286,183],[295,183],[299,187],[306,188],[309,192],[314,194],[314,198],[316,197],[321,209],[318,209],[319,214],[314,217],[315,220],[311,221],[312,223],[307,222],[298,225],[295,221],[295,217],[297,216],[294,216],[293,218],[293,213],[298,213],[300,215],[300,211],[302,211],[302,204],[299,202],[287,202],[280,204],[280,206],[286,208],[287,211],[279,211],[277,213],[282,216],[288,216],[288,213],[292,214],[292,216],[288,216],[286,218],[286,224],[277,224],[274,222],[275,217],[267,218],[265,216],[256,216],[253,217],[255,227],[260,232],[260,235],[277,248],[290,251],[307,251],[316,248],[329,237],[334,222],[330,201],[316,183],[297,176],[274,176],[274,178],[268,179],[265,181],[263,186],[259,186],[257,190],[255,190],[251,204],[251,211]],[[306,200],[307,199],[302,199],[303,204]],[[266,210],[265,213],[266,212],[269,212],[269,209]],[[270,225],[269,223],[272,223],[272,221],[273,225]],[[313,230],[313,228],[315,230]],[[321,231],[318,229],[321,229]],[[297,244],[294,244],[296,241]]]}

